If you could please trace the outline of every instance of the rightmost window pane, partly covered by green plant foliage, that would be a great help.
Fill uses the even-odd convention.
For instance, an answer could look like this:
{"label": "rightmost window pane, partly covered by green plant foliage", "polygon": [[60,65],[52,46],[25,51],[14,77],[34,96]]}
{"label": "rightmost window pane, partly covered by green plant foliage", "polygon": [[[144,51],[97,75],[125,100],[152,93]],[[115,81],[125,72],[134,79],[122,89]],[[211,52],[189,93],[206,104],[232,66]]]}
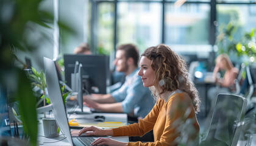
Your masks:
{"label": "rightmost window pane, partly covered by green plant foliage", "polygon": [[[245,46],[246,52],[247,50],[249,52],[250,45],[244,45],[244,43],[252,41],[251,45],[255,46],[255,38],[251,40],[245,37],[245,33],[251,33],[252,28],[256,28],[256,4],[218,4],[216,9],[218,21],[216,45],[219,51],[237,53],[234,45],[240,42]],[[229,29],[231,27],[234,29]],[[224,34],[226,37],[223,37]],[[230,52],[229,49],[233,51]]]}

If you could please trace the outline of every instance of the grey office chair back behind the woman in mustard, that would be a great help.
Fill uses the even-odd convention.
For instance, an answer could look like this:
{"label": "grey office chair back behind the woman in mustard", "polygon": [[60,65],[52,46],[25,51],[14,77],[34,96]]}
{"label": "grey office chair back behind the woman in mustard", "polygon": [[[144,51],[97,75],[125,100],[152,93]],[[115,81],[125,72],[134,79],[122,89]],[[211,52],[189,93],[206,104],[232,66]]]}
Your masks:
{"label": "grey office chair back behind the woman in mustard", "polygon": [[209,128],[204,127],[208,129],[201,134],[200,145],[234,146],[243,127],[247,100],[233,94],[219,94],[215,101],[210,125],[205,123]]}

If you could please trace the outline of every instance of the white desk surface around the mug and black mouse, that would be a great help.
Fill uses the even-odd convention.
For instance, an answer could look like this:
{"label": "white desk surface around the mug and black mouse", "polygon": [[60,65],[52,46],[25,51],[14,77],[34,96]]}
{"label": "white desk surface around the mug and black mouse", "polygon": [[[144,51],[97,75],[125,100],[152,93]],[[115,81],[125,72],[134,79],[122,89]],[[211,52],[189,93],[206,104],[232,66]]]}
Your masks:
{"label": "white desk surface around the mug and black mouse", "polygon": [[[40,115],[42,117],[42,115]],[[105,122],[107,121],[113,121],[116,122],[127,122],[127,114],[122,113],[93,113],[93,114],[71,114],[68,115],[68,120],[70,121],[73,118],[76,118],[78,122],[82,121],[83,123],[96,123],[94,120],[95,116],[105,116]],[[48,117],[53,117],[53,115],[48,115]],[[46,138],[43,137],[43,123],[42,120],[39,119],[38,123],[38,145],[70,145],[67,139],[65,138],[62,133],[60,133],[60,136],[54,137],[54,138]],[[121,142],[129,142],[128,136],[118,136],[118,137],[112,137],[116,141]],[[62,141],[59,141],[63,139]],[[59,141],[59,142],[55,142]],[[44,143],[44,142],[54,142],[54,143]]]}

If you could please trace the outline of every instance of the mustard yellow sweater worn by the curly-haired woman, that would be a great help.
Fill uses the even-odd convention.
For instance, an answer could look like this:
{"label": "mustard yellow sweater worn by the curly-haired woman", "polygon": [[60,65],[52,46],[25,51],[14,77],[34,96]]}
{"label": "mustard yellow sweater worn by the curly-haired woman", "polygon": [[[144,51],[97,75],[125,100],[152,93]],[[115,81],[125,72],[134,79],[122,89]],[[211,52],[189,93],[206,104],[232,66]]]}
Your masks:
{"label": "mustard yellow sweater worn by the curly-haired woman", "polygon": [[159,99],[143,120],[113,128],[113,136],[143,136],[153,129],[154,142],[129,142],[128,145],[197,145],[199,124],[187,93],[175,93],[167,102]]}

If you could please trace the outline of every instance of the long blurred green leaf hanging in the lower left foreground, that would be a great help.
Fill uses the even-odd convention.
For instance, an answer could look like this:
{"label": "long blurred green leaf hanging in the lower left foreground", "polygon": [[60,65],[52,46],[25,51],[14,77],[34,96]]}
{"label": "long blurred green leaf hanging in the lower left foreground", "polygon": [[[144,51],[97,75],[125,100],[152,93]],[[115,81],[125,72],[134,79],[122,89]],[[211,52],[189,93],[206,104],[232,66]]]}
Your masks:
{"label": "long blurred green leaf hanging in the lower left foreground", "polygon": [[37,145],[36,98],[30,88],[30,82],[23,71],[17,71],[17,91],[15,98],[19,101],[19,112],[24,131],[30,136],[30,144]]}

